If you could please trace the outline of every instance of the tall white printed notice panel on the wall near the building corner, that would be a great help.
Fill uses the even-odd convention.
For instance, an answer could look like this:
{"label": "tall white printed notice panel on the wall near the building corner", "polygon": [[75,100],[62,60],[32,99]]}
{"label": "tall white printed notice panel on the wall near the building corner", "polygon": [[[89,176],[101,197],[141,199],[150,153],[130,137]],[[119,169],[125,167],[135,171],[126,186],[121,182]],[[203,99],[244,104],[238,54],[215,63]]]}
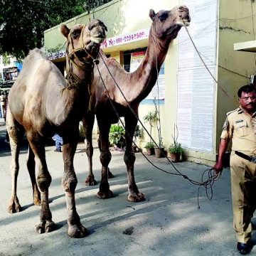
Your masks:
{"label": "tall white printed notice panel on the wall near the building corner", "polygon": [[[189,8],[188,31],[215,77],[217,0],[183,0]],[[178,37],[178,142],[188,149],[213,151],[215,81],[196,53],[188,33]]]}

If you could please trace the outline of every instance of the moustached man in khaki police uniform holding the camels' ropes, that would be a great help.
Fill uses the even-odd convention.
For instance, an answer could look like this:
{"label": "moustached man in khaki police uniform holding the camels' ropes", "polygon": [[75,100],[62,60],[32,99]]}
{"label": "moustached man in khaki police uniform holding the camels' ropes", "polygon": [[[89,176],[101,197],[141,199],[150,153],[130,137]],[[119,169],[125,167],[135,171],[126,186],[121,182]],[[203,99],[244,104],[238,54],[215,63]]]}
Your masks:
{"label": "moustached man in khaki police uniform holding the camels' ropes", "polygon": [[228,112],[220,136],[216,173],[223,170],[223,156],[232,141],[230,155],[233,226],[238,251],[250,253],[251,218],[256,208],[256,92],[252,85],[238,90],[238,109]]}

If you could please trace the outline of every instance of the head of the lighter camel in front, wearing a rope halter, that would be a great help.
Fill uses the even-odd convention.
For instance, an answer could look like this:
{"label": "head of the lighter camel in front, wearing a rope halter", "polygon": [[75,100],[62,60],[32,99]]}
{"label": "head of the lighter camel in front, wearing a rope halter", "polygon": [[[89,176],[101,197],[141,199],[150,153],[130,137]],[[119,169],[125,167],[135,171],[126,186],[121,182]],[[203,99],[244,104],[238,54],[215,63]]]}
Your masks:
{"label": "head of the lighter camel in front, wearing a rope halter", "polygon": [[87,25],[77,24],[73,28],[61,24],[60,31],[67,38],[68,54],[85,61],[97,58],[100,43],[106,38],[107,27],[102,21],[95,19]]}

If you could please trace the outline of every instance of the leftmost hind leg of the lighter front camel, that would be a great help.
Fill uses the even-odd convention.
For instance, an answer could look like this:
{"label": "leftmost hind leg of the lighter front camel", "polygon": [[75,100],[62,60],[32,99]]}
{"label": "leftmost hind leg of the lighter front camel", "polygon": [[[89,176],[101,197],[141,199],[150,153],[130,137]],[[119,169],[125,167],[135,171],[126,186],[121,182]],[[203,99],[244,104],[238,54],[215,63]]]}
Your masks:
{"label": "leftmost hind leg of the lighter front camel", "polygon": [[17,196],[17,178],[18,178],[18,154],[21,149],[21,140],[24,135],[24,129],[14,120],[10,110],[7,110],[6,127],[9,134],[11,146],[11,198],[7,208],[9,213],[18,213],[21,211],[21,205]]}

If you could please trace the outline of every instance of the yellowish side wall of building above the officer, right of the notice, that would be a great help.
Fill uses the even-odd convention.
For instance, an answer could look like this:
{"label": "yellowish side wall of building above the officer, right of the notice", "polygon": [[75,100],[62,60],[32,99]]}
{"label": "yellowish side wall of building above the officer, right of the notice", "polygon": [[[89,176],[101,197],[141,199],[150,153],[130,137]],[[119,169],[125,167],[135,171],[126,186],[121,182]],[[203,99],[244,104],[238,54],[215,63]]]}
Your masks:
{"label": "yellowish side wall of building above the officer, right of the notice", "polygon": [[255,53],[235,51],[233,46],[234,43],[255,40],[255,14],[255,1],[219,1],[216,151],[225,113],[238,107],[238,89],[248,84],[250,75],[256,73]]}

